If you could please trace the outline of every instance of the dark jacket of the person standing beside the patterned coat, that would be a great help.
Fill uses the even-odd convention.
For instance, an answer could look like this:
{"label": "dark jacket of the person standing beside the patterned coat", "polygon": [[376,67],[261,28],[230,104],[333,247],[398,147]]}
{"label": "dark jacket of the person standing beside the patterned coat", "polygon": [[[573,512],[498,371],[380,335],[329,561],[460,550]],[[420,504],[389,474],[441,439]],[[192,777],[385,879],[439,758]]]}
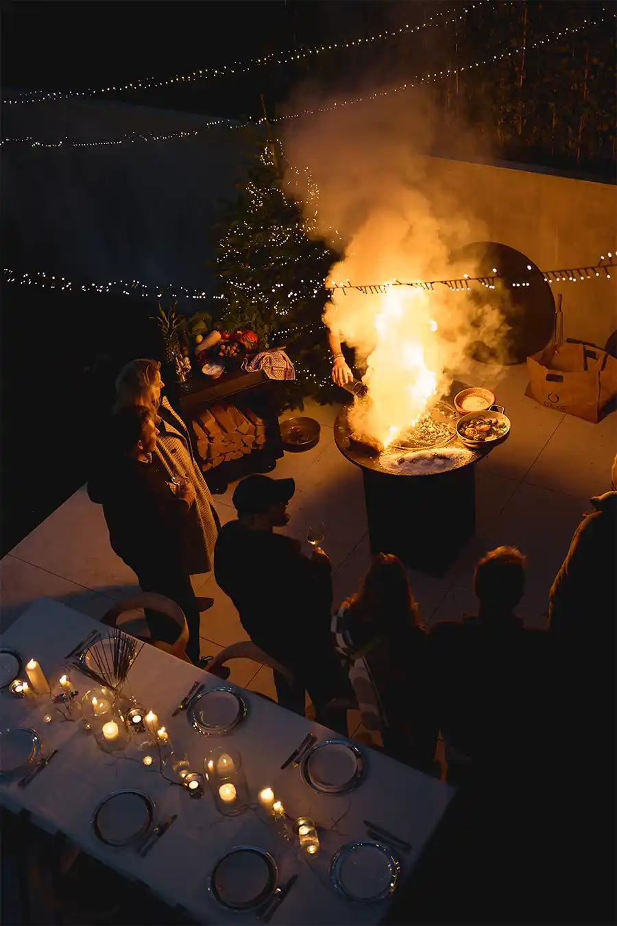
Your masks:
{"label": "dark jacket of the person standing beside the patterned coat", "polygon": [[186,571],[194,505],[175,497],[155,461],[109,458],[88,482],[88,494],[103,506],[112,549],[138,576]]}

